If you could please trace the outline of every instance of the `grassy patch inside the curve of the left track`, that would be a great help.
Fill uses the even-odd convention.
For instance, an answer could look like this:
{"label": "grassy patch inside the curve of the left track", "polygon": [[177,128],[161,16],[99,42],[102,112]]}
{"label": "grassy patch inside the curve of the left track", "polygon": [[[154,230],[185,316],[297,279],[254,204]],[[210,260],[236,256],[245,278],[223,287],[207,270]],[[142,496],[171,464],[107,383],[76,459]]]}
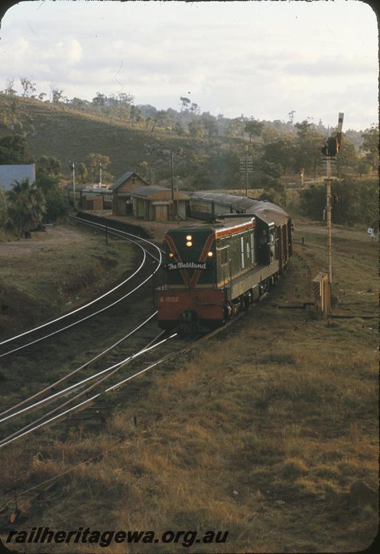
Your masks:
{"label": "grassy patch inside the curve of the left track", "polygon": [[1,339],[99,296],[133,267],[129,243],[114,240],[107,247],[98,235],[69,224],[0,243],[0,249]]}

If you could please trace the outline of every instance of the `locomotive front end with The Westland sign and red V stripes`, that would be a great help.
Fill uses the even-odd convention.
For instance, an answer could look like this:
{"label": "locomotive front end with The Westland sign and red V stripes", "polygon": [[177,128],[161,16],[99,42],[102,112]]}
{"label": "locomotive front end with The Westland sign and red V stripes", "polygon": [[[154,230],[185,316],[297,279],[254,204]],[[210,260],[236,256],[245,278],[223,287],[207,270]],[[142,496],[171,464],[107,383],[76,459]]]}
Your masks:
{"label": "locomotive front end with The Westland sign and red V stripes", "polygon": [[171,229],[165,235],[165,284],[158,291],[158,325],[182,332],[208,331],[223,320],[216,287],[215,231]]}

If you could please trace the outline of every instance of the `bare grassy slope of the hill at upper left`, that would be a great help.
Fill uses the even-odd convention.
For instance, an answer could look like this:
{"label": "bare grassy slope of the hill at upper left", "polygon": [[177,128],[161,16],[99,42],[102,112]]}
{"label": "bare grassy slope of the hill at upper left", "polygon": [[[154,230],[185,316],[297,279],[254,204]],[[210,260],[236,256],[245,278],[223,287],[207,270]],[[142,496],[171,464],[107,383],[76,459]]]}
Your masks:
{"label": "bare grassy slope of the hill at upper left", "polygon": [[[207,140],[194,140],[178,136],[174,132],[156,127],[154,132],[117,120],[107,120],[84,111],[40,102],[28,98],[0,94],[0,115],[8,123],[12,121],[12,103],[15,118],[19,123],[15,131],[27,133],[31,154],[37,159],[42,155],[55,156],[61,161],[62,172],[69,173],[68,162],[87,162],[88,154],[97,152],[111,159],[109,170],[117,178],[126,170],[135,170],[144,175],[143,161],[154,166],[156,179],[169,179],[170,150],[183,149],[182,156],[175,159],[175,175],[191,175],[207,154],[220,152],[221,142],[209,144]],[[140,124],[143,125],[143,124]],[[5,125],[0,136],[9,134]],[[243,150],[242,139],[226,139],[222,143]],[[234,146],[235,145],[235,146]],[[186,168],[186,169],[185,169]],[[97,176],[95,177],[97,178]]]}

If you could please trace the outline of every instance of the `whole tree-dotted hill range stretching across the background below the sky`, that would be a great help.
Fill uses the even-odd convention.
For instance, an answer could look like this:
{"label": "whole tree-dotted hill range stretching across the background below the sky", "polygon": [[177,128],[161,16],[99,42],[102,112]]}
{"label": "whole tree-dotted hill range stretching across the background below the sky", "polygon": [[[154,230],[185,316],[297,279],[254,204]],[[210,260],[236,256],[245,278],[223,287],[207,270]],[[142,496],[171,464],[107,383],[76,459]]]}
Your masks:
{"label": "whole tree-dotted hill range stretching across the background below the sky", "polygon": [[[61,91],[59,91],[61,93]],[[50,102],[0,92],[0,138],[25,134],[35,159],[53,156],[70,178],[69,161],[85,163],[92,170],[86,182],[99,179],[96,153],[110,160],[103,181],[114,181],[126,170],[135,170],[153,184],[169,184],[171,152],[178,188],[242,188],[240,159],[253,162],[250,188],[281,188],[279,179],[295,182],[303,173],[314,179],[324,174],[321,147],[326,129],[304,120],[259,121],[243,114],[238,118],[212,116],[182,98],[181,111],[135,106],[133,97],[107,98],[100,93],[92,102],[60,98]],[[336,161],[336,175],[367,175],[377,171],[377,127],[343,134],[343,148]],[[89,163],[90,162],[90,163]],[[106,167],[106,161],[104,162]]]}

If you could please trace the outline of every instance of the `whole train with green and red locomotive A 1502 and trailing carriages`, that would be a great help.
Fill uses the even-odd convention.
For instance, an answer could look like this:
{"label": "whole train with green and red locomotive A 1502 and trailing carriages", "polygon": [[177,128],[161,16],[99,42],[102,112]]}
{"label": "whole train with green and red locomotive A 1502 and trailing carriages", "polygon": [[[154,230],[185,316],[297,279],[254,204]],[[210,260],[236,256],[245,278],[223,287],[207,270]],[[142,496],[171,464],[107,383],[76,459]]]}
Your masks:
{"label": "whole train with green and red locomotive A 1502 and trailing carriages", "polygon": [[285,274],[292,220],[271,202],[208,192],[191,195],[189,215],[202,222],[164,237],[158,325],[208,332],[247,310]]}

